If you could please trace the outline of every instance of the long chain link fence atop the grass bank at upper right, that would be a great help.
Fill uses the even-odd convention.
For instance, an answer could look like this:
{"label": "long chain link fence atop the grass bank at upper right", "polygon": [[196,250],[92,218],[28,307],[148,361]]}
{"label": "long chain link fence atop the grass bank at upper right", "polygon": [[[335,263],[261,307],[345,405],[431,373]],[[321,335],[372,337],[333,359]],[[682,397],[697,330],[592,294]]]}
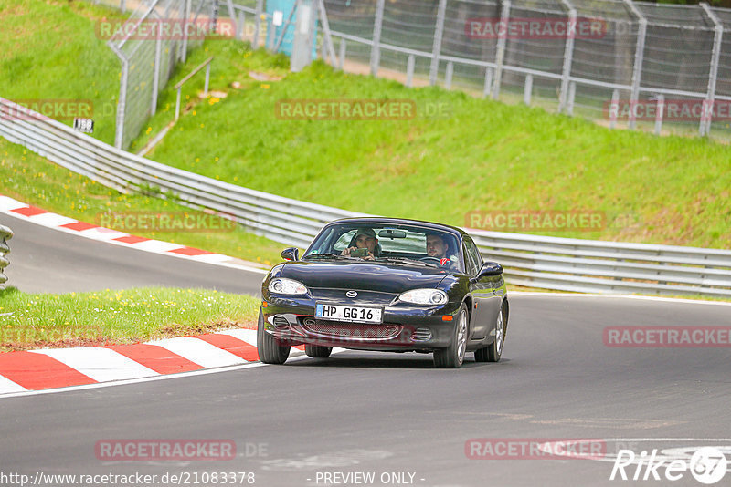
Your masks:
{"label": "long chain link fence atop the grass bank at upper right", "polygon": [[346,70],[609,127],[731,135],[731,11],[630,0],[325,0]]}

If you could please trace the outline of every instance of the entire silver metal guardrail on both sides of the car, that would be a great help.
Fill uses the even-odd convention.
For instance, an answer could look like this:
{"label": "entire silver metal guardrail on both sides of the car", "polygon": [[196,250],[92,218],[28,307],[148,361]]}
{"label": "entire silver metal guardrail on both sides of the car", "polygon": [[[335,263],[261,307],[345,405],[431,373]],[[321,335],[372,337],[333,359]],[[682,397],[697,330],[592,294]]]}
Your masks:
{"label": "entire silver metal guardrail on both sides of the car", "polygon": [[[0,98],[0,112],[16,104]],[[27,110],[26,110],[27,113]],[[324,223],[367,216],[176,169],[118,150],[37,114],[0,117],[0,135],[121,192],[159,189],[165,198],[225,212],[250,232],[306,247]],[[512,284],[546,289],[660,295],[731,296],[731,251],[470,230],[486,259]]]}

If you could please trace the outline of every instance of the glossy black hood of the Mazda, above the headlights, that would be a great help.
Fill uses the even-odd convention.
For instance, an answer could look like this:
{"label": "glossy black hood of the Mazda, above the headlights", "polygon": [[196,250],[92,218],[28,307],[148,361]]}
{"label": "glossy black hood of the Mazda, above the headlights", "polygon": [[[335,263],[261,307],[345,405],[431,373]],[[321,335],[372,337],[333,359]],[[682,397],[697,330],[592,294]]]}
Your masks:
{"label": "glossy black hood of the Mazda, above the headlights", "polygon": [[418,287],[435,288],[446,275],[447,271],[436,267],[350,262],[287,263],[280,274],[312,288],[360,289],[394,294]]}

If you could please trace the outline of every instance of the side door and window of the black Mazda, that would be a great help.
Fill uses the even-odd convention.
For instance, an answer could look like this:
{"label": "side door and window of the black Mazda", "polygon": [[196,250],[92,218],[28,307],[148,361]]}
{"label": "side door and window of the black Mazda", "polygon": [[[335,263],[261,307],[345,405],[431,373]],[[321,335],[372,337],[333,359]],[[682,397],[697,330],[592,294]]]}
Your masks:
{"label": "side door and window of the black Mazda", "polygon": [[501,305],[501,296],[495,295],[494,289],[502,276],[484,276],[478,279],[483,264],[482,255],[469,236],[464,238],[464,261],[474,300],[470,335],[472,340],[482,340],[494,333],[493,327]]}

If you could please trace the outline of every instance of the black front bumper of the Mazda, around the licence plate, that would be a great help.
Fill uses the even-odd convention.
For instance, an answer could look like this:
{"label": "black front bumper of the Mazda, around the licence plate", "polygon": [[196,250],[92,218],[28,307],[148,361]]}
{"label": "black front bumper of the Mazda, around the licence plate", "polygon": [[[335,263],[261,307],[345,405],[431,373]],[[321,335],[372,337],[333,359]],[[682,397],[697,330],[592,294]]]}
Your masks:
{"label": "black front bumper of the Mazda, around the licence plate", "polygon": [[[316,319],[316,303],[382,306],[383,321],[381,324],[367,324]],[[281,345],[430,352],[450,346],[459,307],[453,303],[441,306],[378,305],[373,302],[344,303],[342,300],[269,296],[262,302],[262,314],[264,331]]]}

